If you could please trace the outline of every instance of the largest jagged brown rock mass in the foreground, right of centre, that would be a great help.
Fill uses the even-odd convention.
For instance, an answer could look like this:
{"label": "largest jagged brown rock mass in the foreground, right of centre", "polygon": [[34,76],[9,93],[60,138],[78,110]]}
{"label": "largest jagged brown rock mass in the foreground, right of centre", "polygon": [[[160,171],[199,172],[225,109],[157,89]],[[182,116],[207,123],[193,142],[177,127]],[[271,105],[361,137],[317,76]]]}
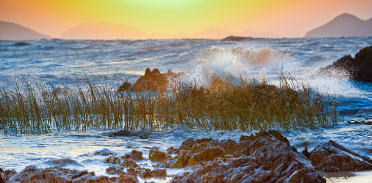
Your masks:
{"label": "largest jagged brown rock mass in the foreground, right of centre", "polygon": [[[153,148],[151,154],[157,151]],[[325,182],[306,157],[273,130],[241,136],[239,142],[190,138],[166,151],[176,155],[164,159],[161,154],[156,159],[161,167],[192,167],[172,182]]]}

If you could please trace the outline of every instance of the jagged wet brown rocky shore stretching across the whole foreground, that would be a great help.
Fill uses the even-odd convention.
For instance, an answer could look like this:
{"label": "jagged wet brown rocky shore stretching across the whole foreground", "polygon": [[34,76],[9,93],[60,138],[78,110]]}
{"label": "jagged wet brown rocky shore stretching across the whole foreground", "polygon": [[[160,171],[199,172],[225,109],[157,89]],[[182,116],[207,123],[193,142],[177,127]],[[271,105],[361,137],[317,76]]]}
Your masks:
{"label": "jagged wet brown rocky shore stretching across the whole foreground", "polygon": [[[130,131],[129,131],[130,132]],[[138,135],[135,132],[114,135]],[[99,152],[98,152],[99,153]],[[146,152],[147,153],[147,152]],[[310,153],[299,153],[278,131],[261,131],[242,135],[239,142],[231,139],[190,138],[178,148],[161,151],[153,146],[149,156],[132,150],[123,156],[103,153],[109,176],[97,176],[87,170],[62,167],[28,166],[21,172],[0,169],[3,182],[139,182],[139,178],[169,177],[167,170],[183,168],[184,173],[171,182],[325,182],[317,171],[365,171],[372,169],[372,160],[329,141]],[[150,160],[145,168],[139,161]]]}

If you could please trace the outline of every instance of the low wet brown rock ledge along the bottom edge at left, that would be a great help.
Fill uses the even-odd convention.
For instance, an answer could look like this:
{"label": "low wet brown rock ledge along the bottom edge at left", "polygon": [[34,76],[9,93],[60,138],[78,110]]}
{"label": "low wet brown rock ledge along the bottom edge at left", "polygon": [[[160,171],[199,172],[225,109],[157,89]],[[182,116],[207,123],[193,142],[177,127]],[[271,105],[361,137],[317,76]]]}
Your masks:
{"label": "low wet brown rock ledge along the bottom edge at left", "polygon": [[60,167],[54,168],[36,168],[28,166],[21,172],[12,176],[10,183],[28,183],[28,182],[138,182],[137,177],[130,175],[121,175],[119,177],[96,176],[94,172],[86,170],[69,170]]}

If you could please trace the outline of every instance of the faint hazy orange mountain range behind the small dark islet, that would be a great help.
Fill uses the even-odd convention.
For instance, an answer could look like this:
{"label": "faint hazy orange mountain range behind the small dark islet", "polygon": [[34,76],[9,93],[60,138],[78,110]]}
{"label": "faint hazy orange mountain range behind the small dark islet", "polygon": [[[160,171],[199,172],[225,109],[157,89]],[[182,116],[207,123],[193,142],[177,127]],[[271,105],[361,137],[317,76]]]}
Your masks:
{"label": "faint hazy orange mountain range behind the small dark islet", "polygon": [[242,32],[228,32],[221,28],[208,28],[205,31],[185,35],[188,38],[205,38],[205,39],[223,39],[228,36],[239,36],[239,37],[253,37],[253,38],[279,38],[278,35],[273,33],[265,32],[254,32],[254,31],[242,31]]}

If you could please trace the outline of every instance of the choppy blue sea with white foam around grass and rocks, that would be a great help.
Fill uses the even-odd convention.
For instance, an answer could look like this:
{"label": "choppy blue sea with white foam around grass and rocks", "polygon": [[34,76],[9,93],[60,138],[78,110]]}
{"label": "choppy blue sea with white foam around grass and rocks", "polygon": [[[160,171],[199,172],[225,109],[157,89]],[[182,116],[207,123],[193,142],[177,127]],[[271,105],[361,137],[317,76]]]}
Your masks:
{"label": "choppy blue sea with white foam around grass and rocks", "polygon": [[[242,41],[210,39],[169,40],[32,40],[0,41],[0,88],[14,91],[25,84],[46,83],[54,87],[87,88],[87,78],[117,89],[124,81],[131,83],[146,68],[160,72],[184,72],[183,82],[198,80],[208,84],[208,76],[267,80],[279,85],[278,74],[305,83],[320,94],[331,95],[341,116],[338,123],[316,129],[298,128],[283,133],[290,144],[309,151],[333,140],[356,153],[372,158],[372,126],[349,125],[347,120],[368,120],[372,116],[372,83],[350,80],[347,73],[334,71],[333,76],[319,72],[344,55],[355,54],[372,45],[372,37],[251,39]],[[372,72],[372,71],[371,71]],[[235,83],[238,84],[238,83]],[[0,99],[2,100],[2,99]],[[17,172],[29,165],[46,168],[61,166],[108,175],[106,157],[99,152],[127,154],[132,149],[148,157],[149,149],[178,147],[188,138],[214,138],[239,141],[241,135],[257,131],[221,131],[177,128],[149,132],[148,139],[110,137],[115,129],[88,131],[52,131],[20,134],[0,132],[0,167]],[[97,153],[98,152],[98,153]],[[138,162],[153,168],[152,162]],[[167,182],[185,169],[167,169],[165,179],[142,179]],[[372,171],[320,172],[327,182],[370,182]]]}

